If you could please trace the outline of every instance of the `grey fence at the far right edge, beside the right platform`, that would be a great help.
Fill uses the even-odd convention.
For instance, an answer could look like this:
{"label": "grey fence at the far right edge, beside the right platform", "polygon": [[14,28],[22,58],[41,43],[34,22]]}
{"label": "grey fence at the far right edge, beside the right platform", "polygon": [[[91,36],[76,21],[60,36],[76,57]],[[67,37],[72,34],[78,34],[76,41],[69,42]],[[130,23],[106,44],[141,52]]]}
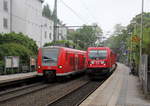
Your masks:
{"label": "grey fence at the far right edge, beside the right platform", "polygon": [[142,55],[139,78],[145,94],[150,93],[150,56]]}

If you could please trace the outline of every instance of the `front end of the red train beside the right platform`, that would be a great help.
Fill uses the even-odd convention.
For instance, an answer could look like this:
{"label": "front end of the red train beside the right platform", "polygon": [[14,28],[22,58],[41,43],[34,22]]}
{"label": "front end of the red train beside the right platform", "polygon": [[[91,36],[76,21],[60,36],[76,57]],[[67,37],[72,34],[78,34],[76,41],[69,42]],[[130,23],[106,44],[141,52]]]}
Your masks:
{"label": "front end of the red train beside the right platform", "polygon": [[90,76],[100,76],[109,73],[109,50],[106,47],[91,47],[87,51],[88,70]]}

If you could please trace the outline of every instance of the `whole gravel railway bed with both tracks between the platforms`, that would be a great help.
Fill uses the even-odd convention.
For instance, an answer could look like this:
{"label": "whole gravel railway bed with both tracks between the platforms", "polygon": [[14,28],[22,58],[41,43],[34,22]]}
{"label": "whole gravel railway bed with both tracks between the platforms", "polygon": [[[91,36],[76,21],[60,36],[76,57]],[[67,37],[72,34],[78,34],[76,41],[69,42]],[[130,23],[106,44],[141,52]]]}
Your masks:
{"label": "whole gravel railway bed with both tracks between the platforms", "polygon": [[[63,83],[34,84],[0,93],[1,106],[75,106],[79,105],[102,81],[89,81],[87,76]],[[92,90],[91,90],[92,88]]]}

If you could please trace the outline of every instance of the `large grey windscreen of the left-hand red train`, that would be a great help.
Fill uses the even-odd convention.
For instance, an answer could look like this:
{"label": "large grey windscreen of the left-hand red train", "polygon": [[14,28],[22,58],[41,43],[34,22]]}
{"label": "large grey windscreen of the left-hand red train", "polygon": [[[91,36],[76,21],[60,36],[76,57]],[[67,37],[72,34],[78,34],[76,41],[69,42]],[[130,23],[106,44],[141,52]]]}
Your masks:
{"label": "large grey windscreen of the left-hand red train", "polygon": [[58,60],[58,49],[44,48],[42,49],[42,65],[56,66]]}

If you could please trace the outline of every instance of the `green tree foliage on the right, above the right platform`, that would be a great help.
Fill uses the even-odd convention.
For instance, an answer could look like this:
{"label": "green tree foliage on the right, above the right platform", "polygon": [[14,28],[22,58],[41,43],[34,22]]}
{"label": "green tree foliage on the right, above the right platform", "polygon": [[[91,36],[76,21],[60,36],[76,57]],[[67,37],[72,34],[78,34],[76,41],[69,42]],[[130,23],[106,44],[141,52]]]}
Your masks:
{"label": "green tree foliage on the right, above the right platform", "polygon": [[[119,26],[119,25],[118,25]],[[121,29],[120,28],[116,28]],[[119,33],[118,33],[119,32]],[[105,45],[115,48],[119,54],[119,58],[126,60],[127,56],[131,57],[139,63],[140,50],[140,34],[141,34],[141,14],[136,15],[131,20],[131,23],[120,31],[115,32],[115,36],[111,36],[105,41]],[[142,53],[150,55],[150,13],[143,14],[143,42]],[[133,37],[139,38],[138,41],[133,41]],[[131,47],[132,45],[132,47]],[[127,54],[126,54],[127,53]],[[126,55],[125,55],[126,54]],[[124,59],[123,59],[124,58]]]}

